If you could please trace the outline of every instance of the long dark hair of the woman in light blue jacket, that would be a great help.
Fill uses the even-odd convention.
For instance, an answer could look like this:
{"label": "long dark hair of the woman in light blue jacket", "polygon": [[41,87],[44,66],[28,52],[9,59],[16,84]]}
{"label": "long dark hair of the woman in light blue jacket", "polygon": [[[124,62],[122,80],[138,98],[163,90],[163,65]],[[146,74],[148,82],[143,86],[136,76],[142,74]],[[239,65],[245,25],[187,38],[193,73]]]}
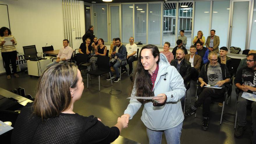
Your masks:
{"label": "long dark hair of the woman in light blue jacket", "polygon": [[[158,47],[155,45],[146,45],[144,47],[142,47],[141,51],[143,49],[150,49],[152,55],[154,56],[154,58],[156,58],[158,56],[158,60],[157,60],[157,64],[159,63],[160,60],[160,53],[158,50]],[[148,73],[147,70],[144,69],[142,63],[141,63],[141,51],[139,54],[139,59],[138,59],[138,64],[137,64],[137,68],[136,68],[136,76],[135,76],[135,80],[132,83],[132,87],[135,84],[135,91],[136,91],[136,96],[137,97],[153,97],[154,93],[152,91],[152,81],[150,79],[150,75]],[[130,91],[131,94],[131,91]],[[145,104],[146,102],[150,102],[151,100],[147,99],[138,99],[139,102],[141,102],[142,104]]]}

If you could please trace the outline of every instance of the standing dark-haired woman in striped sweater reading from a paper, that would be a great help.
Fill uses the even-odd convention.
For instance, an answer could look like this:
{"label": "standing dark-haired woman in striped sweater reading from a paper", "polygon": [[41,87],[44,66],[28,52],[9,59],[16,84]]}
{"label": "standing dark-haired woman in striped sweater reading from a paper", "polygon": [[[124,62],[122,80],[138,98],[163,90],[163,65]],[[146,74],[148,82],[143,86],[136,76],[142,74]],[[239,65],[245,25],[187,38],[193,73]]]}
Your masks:
{"label": "standing dark-haired woman in striped sweater reading from a paper", "polygon": [[[13,38],[12,40],[10,40],[12,42],[12,45],[5,45],[6,41],[4,41],[4,38]],[[16,51],[15,45],[17,45],[17,41],[12,35],[10,29],[8,29],[7,27],[1,27],[0,48],[1,48],[2,58],[5,64],[7,79],[11,79],[10,61],[12,64],[14,77],[16,78],[19,77],[19,75],[17,74],[17,66],[16,66],[17,51]]]}

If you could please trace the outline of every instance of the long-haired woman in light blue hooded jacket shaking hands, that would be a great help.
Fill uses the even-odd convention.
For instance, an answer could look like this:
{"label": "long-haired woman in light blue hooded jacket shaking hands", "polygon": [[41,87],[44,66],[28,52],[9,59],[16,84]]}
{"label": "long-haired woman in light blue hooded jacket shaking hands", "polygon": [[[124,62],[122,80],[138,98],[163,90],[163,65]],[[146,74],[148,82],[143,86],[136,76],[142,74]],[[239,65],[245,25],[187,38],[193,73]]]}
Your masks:
{"label": "long-haired woman in light blue hooded jacket shaking hands", "polygon": [[131,97],[162,97],[131,99],[122,117],[128,123],[143,104],[141,120],[147,127],[149,143],[161,144],[163,132],[168,144],[180,143],[184,120],[180,99],[186,91],[183,79],[155,45],[142,47],[139,59]]}

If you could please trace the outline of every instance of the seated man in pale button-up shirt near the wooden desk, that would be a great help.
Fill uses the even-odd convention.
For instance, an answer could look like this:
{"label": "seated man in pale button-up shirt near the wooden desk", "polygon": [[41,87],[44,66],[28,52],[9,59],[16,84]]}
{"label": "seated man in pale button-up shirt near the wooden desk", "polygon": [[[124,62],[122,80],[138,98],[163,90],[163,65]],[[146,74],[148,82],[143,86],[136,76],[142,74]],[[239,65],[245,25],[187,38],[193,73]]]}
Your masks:
{"label": "seated man in pale button-up shirt near the wooden desk", "polygon": [[56,63],[63,63],[63,61],[69,60],[73,54],[73,49],[68,45],[69,41],[67,39],[63,40],[63,47],[60,49],[56,61],[49,63],[46,67],[50,67]]}

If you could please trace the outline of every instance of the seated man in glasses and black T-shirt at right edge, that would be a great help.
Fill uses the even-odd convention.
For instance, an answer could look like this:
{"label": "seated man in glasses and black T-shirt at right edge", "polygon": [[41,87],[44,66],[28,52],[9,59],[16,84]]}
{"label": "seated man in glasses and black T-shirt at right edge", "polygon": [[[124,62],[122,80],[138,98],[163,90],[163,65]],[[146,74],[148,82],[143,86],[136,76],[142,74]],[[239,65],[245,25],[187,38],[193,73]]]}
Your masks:
{"label": "seated man in glasses and black T-shirt at right edge", "polygon": [[247,66],[238,70],[234,83],[239,88],[239,98],[237,101],[238,127],[234,136],[241,138],[246,129],[246,109],[248,105],[252,108],[252,132],[256,129],[256,102],[241,97],[244,94],[256,97],[256,53],[250,53],[246,58]]}

